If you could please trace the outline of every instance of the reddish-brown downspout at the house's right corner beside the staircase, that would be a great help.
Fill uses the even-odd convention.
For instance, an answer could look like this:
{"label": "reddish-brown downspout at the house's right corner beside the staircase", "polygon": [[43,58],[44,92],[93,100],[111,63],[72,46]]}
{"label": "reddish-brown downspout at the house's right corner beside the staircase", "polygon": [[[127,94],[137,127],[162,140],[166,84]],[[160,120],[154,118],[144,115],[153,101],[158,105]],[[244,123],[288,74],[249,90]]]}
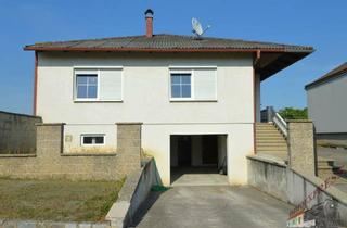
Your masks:
{"label": "reddish-brown downspout at the house's right corner beside the staircase", "polygon": [[260,60],[260,50],[258,49],[254,55],[253,61],[253,151],[257,153],[257,139],[256,139],[256,124],[257,124],[257,104],[256,104],[256,65]]}

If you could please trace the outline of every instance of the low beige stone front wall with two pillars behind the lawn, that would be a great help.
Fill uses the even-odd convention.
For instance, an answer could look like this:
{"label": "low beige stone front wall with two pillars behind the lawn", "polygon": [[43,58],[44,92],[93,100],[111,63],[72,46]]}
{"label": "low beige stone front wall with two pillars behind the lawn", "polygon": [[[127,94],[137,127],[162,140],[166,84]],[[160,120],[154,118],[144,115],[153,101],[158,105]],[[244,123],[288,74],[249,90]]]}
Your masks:
{"label": "low beige stone front wall with two pillars behind the lawn", "polygon": [[[37,126],[37,153],[0,156],[0,176],[12,178],[66,178],[79,180],[116,180],[140,168],[140,134],[124,125],[118,137],[119,152],[114,154],[64,154],[64,124]],[[141,125],[133,124],[129,129]],[[132,134],[133,132],[133,134]],[[123,140],[126,140],[123,142]],[[127,148],[128,144],[133,147]],[[136,155],[138,154],[138,155]],[[129,161],[129,162],[128,162]]]}

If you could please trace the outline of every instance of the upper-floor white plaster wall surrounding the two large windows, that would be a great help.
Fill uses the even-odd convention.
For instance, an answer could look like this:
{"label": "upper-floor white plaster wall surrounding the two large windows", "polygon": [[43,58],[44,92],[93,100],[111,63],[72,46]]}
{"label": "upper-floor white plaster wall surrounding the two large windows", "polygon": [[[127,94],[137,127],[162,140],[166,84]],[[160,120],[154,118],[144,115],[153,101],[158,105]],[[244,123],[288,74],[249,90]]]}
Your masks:
{"label": "upper-floor white plaster wall surrounding the two large windows", "polygon": [[[123,66],[124,101],[74,103],[73,66]],[[172,65],[217,66],[218,102],[169,102]],[[37,114],[44,122],[250,123],[250,55],[39,54]],[[54,104],[54,105],[52,105]]]}

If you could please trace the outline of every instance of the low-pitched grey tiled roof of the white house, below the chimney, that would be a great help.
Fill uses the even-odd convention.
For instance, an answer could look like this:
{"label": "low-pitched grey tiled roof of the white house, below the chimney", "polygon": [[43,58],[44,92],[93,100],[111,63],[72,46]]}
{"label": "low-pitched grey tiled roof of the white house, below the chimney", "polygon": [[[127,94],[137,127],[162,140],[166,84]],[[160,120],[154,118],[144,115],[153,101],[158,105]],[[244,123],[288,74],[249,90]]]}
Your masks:
{"label": "low-pitched grey tiled roof of the white house, below the chimney", "polygon": [[86,39],[56,42],[39,42],[26,46],[25,50],[268,50],[284,52],[312,52],[312,47],[291,46],[273,42],[246,41],[241,39],[223,39],[203,37],[197,39],[192,36],[179,35],[154,35],[152,38],[145,36],[114,37],[103,39]]}

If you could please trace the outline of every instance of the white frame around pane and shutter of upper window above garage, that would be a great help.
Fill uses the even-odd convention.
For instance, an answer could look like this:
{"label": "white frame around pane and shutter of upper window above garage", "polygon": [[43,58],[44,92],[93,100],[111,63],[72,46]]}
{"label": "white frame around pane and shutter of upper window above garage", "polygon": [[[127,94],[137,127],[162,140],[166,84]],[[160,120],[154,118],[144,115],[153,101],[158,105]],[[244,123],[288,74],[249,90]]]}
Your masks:
{"label": "white frame around pane and shutter of upper window above garage", "polygon": [[[216,78],[216,85],[215,85],[215,98],[213,99],[195,99],[195,75],[194,72],[196,69],[214,69],[215,71],[215,78]],[[190,98],[172,98],[171,93],[171,74],[191,74],[191,97]],[[169,100],[170,101],[217,101],[217,85],[218,85],[218,75],[217,75],[217,66],[169,66]]]}

